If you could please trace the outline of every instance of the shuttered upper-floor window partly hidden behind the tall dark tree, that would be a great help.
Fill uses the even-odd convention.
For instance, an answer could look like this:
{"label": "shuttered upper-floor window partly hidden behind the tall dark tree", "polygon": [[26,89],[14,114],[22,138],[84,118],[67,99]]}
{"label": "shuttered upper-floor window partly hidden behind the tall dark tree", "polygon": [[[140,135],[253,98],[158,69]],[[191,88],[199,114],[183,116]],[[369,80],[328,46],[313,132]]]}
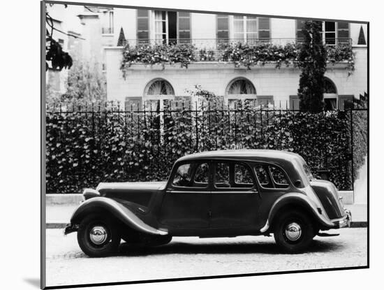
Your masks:
{"label": "shuttered upper-floor window partly hidden behind the tall dark tree", "polygon": [[[303,41],[304,34],[302,29],[304,27],[303,20],[296,21],[296,38],[297,41]],[[326,45],[338,45],[350,43],[349,36],[349,23],[348,22],[333,22],[323,21],[321,22],[321,37],[323,43]]]}

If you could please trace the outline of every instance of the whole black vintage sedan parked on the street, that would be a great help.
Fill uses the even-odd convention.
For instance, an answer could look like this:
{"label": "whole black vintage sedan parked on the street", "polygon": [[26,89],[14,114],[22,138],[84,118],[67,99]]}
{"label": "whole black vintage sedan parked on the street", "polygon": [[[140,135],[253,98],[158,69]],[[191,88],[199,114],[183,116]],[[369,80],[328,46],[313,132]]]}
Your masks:
{"label": "whole black vintage sedan parked on the street", "polygon": [[172,236],[274,234],[286,252],[306,249],[319,231],[348,226],[332,182],[316,180],[298,154],[223,150],[178,159],[168,182],[101,183],[65,233],[77,231],[88,256],[117,251],[121,239],[162,245]]}

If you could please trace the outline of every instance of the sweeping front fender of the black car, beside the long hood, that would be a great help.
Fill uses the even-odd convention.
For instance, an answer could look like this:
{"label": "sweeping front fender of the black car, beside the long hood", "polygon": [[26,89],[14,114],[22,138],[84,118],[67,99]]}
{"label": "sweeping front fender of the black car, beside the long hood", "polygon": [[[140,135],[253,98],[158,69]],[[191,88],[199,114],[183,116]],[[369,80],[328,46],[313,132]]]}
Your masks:
{"label": "sweeping front fender of the black car, beside the long hood", "polygon": [[75,212],[73,212],[71,225],[73,226],[74,224],[79,224],[82,217],[100,209],[109,212],[111,215],[126,224],[126,226],[142,233],[149,233],[152,235],[168,235],[166,231],[155,229],[154,227],[145,224],[145,222],[142,222],[140,218],[131,212],[131,210],[125,208],[124,205],[105,197],[89,198],[87,201],[81,203]]}

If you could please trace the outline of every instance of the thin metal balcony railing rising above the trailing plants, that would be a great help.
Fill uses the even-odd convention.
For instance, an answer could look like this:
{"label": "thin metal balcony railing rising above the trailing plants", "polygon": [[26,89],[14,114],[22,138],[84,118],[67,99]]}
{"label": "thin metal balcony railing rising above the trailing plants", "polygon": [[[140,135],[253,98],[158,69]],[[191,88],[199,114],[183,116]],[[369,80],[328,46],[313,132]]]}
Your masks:
{"label": "thin metal balcony railing rising above the trailing plants", "polygon": [[[281,51],[288,52],[288,50],[295,50],[298,45],[303,43],[300,38],[252,38],[252,39],[217,39],[217,38],[201,38],[201,39],[127,39],[126,43],[131,48],[141,48],[141,52],[147,53],[146,48],[153,48],[155,46],[167,45],[192,45],[192,53],[194,61],[231,61],[231,53],[235,51],[234,48],[242,50],[243,55],[253,56],[255,53],[259,54],[260,51],[267,54],[279,53]],[[343,48],[350,50],[352,41],[350,38],[327,38],[323,43],[330,48]],[[327,44],[330,43],[330,44]],[[259,50],[260,48],[260,50]],[[145,51],[147,50],[147,51]],[[161,50],[161,49],[159,49]],[[140,53],[141,53],[140,52]],[[164,53],[164,52],[158,52]],[[292,54],[290,52],[290,54]]]}

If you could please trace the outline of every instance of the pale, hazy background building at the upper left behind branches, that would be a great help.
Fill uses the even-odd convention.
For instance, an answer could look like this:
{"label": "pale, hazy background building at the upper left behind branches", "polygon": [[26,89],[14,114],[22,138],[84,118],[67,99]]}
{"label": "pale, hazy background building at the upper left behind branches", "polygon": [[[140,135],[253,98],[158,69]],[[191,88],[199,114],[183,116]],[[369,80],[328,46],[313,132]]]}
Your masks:
{"label": "pale, hazy background building at the upper left behind branches", "polygon": [[[46,10],[48,34],[52,34],[62,50],[74,61],[94,64],[94,69],[105,73],[105,48],[116,45],[113,43],[113,9],[56,3],[47,4]],[[50,92],[64,94],[67,79],[67,69],[59,71],[48,64],[46,80]]]}

